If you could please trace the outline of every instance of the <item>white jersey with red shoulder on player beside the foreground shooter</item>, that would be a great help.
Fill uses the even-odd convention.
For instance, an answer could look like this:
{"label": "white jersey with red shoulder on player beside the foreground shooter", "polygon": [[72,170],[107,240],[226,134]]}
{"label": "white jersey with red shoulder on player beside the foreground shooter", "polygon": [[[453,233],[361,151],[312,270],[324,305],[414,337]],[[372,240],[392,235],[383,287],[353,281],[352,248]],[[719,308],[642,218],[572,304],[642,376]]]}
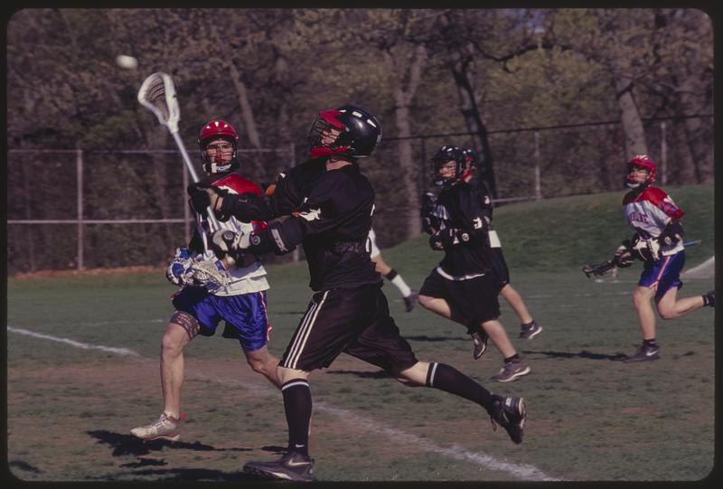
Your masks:
{"label": "white jersey with red shoulder on player beside the foreground shooter", "polygon": [[[227,190],[229,193],[256,193],[261,195],[261,189],[256,183],[251,182],[249,179],[244,178],[239,174],[230,174],[224,176],[220,180],[211,183],[221,189]],[[228,221],[219,221],[219,225],[222,230],[232,230],[234,232],[245,232],[250,233],[253,230],[260,230],[267,227],[265,221],[251,221],[241,222],[235,217],[231,216]],[[205,216],[201,217],[196,214],[196,228],[202,236],[206,236],[208,240],[208,234],[206,231],[207,223],[205,222]],[[217,290],[213,293],[214,296],[236,296],[239,294],[249,294],[251,292],[260,292],[262,290],[268,290],[268,280],[266,278],[266,268],[261,265],[261,262],[257,260],[252,261],[246,267],[241,265],[233,266],[229,269],[229,275],[231,277],[229,283],[225,287]]]}

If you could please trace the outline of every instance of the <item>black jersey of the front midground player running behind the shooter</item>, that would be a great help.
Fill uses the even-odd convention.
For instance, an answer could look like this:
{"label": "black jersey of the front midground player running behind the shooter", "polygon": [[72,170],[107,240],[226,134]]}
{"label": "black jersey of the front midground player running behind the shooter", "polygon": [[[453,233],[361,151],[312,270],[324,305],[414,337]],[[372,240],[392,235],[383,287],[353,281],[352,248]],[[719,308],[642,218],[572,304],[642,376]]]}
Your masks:
{"label": "black jersey of the front midground player running behind the shooter", "polygon": [[[492,215],[486,187],[465,182],[446,187],[437,197],[437,214],[444,216],[445,230],[459,230],[457,235],[468,240],[454,239],[445,246],[445,258],[439,263],[448,276],[473,277],[492,271],[492,251],[487,231]],[[487,197],[485,201],[485,197]]]}

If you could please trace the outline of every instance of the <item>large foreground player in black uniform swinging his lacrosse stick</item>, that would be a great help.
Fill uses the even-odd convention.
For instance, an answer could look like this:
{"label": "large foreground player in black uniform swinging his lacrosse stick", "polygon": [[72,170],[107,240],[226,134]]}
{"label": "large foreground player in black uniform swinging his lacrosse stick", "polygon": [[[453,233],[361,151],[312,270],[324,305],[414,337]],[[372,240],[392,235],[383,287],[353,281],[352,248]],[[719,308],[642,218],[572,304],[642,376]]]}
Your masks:
{"label": "large foreground player in black uniform swinging his lacrosse stick", "polygon": [[[371,155],[381,127],[355,106],[324,110],[309,135],[311,160],[280,175],[271,197],[276,212],[298,208],[286,220],[251,235],[217,231],[218,256],[288,253],[305,249],[314,291],[279,364],[288,452],[273,462],[249,462],[246,472],[277,479],[312,481],[308,454],[312,397],[308,376],[328,367],[340,353],[379,366],[402,383],[446,390],[482,406],[494,423],[521,443],[524,400],[501,397],[444,363],[419,362],[390,316],[382,279],[374,269],[367,237],[374,191],[360,172],[358,159]],[[323,170],[318,172],[318,166]]]}

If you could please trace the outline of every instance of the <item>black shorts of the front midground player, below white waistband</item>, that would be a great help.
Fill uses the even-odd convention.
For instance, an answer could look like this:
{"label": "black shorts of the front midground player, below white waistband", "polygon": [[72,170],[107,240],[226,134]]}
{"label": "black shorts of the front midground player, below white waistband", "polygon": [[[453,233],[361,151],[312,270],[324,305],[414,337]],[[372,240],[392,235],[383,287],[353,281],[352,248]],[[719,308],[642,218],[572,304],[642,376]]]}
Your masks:
{"label": "black shorts of the front midground player, below white waistband", "polygon": [[452,310],[453,319],[469,327],[500,317],[500,303],[497,300],[499,291],[497,277],[493,274],[450,280],[442,277],[435,268],[425,278],[419,295],[445,299]]}

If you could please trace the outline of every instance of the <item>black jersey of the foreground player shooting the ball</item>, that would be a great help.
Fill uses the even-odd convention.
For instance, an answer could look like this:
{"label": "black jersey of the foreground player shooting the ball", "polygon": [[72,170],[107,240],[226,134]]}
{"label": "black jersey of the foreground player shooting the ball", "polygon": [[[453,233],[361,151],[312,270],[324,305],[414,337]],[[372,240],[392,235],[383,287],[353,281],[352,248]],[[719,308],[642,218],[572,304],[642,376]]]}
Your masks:
{"label": "black jersey of the foreground player shooting the ball", "polygon": [[324,171],[305,184],[298,215],[269,224],[259,246],[287,253],[301,244],[315,291],[380,282],[366,247],[374,190],[359,165]]}

